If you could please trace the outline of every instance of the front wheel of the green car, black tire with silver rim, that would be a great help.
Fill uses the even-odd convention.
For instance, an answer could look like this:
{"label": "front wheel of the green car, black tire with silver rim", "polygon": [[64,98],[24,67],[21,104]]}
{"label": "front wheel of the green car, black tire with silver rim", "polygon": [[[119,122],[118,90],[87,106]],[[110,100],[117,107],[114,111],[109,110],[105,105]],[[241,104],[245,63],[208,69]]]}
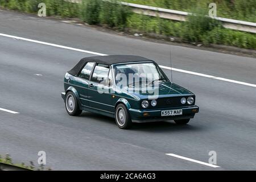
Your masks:
{"label": "front wheel of the green car, black tire with silver rim", "polygon": [[130,114],[123,104],[118,104],[115,108],[115,123],[117,123],[117,126],[120,129],[130,129],[133,124],[131,122]]}

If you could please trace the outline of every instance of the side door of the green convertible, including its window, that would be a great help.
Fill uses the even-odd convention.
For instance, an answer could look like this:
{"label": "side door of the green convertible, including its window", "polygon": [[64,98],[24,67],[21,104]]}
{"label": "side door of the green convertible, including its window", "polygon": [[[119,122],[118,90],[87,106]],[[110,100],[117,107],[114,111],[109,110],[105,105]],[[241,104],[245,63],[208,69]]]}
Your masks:
{"label": "side door of the green convertible, including its window", "polygon": [[89,106],[109,113],[114,112],[109,88],[109,65],[96,64],[88,85]]}

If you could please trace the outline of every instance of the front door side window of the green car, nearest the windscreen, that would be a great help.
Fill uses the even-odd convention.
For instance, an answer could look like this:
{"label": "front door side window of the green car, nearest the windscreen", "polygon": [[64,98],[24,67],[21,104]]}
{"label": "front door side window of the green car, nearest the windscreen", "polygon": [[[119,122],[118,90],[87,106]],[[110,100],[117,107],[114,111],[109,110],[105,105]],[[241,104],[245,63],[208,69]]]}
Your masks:
{"label": "front door side window of the green car, nearest the windscreen", "polygon": [[98,64],[96,65],[93,76],[90,81],[97,82],[99,84],[106,85],[109,76],[109,65]]}

